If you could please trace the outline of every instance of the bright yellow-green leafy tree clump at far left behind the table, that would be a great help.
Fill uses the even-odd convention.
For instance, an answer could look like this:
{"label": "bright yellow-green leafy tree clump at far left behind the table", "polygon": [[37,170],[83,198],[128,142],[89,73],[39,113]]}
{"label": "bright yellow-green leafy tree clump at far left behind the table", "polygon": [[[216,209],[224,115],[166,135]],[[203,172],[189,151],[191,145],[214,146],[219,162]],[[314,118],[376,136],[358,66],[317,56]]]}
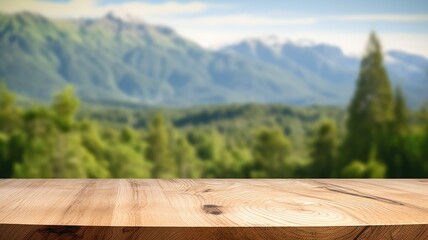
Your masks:
{"label": "bright yellow-green leafy tree clump at far left behind the table", "polygon": [[24,131],[21,132],[16,128],[8,141],[8,158],[9,164],[12,164],[13,176],[40,178],[109,176],[84,148],[81,135],[74,130],[77,104],[77,99],[72,97],[72,91],[66,89],[55,99],[53,110],[34,108],[21,116],[18,115]]}

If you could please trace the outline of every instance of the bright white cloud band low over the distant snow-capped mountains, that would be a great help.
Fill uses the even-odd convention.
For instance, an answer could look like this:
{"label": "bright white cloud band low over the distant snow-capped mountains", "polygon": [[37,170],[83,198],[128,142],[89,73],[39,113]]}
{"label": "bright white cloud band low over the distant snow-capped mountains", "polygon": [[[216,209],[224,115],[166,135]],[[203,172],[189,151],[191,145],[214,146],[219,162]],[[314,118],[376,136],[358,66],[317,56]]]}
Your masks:
{"label": "bright white cloud band low over the distant snow-capped mountains", "polygon": [[[267,36],[276,36],[279,39],[288,39],[295,42],[300,42],[305,39],[310,39],[316,43],[327,43],[340,47],[347,55],[361,56],[366,49],[368,40],[367,33],[355,32],[266,32],[266,31],[221,31],[221,30],[201,30],[192,31],[183,29],[179,31],[185,37],[196,41],[204,47],[216,49],[225,45],[225,43],[235,43],[249,38],[266,38]],[[384,51],[388,50],[402,50],[409,53],[423,55],[428,57],[428,34],[416,33],[382,33],[378,32],[379,38],[382,42]]]}

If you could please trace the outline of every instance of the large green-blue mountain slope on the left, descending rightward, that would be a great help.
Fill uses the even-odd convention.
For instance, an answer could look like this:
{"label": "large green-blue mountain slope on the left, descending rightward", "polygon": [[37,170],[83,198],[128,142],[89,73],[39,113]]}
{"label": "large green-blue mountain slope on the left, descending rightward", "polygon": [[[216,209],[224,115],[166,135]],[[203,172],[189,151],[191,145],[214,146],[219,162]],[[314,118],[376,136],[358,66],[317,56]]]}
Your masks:
{"label": "large green-blue mountain slope on the left, descending rightward", "polygon": [[299,104],[328,99],[287,71],[206,51],[166,27],[112,15],[71,21],[21,13],[0,19],[0,78],[12,90],[36,98],[47,99],[73,84],[82,99],[97,102]]}

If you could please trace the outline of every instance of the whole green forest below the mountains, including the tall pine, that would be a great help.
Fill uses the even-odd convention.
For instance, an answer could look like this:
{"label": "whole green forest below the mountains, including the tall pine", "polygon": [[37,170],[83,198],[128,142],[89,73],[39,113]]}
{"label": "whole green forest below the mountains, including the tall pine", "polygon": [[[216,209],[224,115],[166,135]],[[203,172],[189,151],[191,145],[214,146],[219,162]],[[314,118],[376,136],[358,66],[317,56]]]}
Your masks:
{"label": "whole green forest below the mountains, including the tall pine", "polygon": [[[286,93],[284,93],[286,94]],[[372,34],[349,106],[126,108],[0,89],[2,178],[428,177],[428,107],[392,89]]]}

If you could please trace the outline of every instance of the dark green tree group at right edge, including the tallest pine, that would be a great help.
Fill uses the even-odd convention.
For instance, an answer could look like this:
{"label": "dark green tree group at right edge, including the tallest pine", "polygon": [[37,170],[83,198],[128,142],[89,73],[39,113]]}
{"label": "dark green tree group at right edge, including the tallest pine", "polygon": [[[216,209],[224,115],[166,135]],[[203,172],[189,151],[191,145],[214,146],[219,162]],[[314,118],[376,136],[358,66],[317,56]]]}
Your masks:
{"label": "dark green tree group at right edge, including the tallest pine", "polygon": [[[411,122],[412,114],[401,89],[397,88],[393,96],[374,33],[370,35],[357,84],[338,171],[344,168],[344,176],[426,176],[426,133],[422,129],[427,120]],[[360,159],[366,169],[361,171],[358,162],[349,164],[351,159]]]}

